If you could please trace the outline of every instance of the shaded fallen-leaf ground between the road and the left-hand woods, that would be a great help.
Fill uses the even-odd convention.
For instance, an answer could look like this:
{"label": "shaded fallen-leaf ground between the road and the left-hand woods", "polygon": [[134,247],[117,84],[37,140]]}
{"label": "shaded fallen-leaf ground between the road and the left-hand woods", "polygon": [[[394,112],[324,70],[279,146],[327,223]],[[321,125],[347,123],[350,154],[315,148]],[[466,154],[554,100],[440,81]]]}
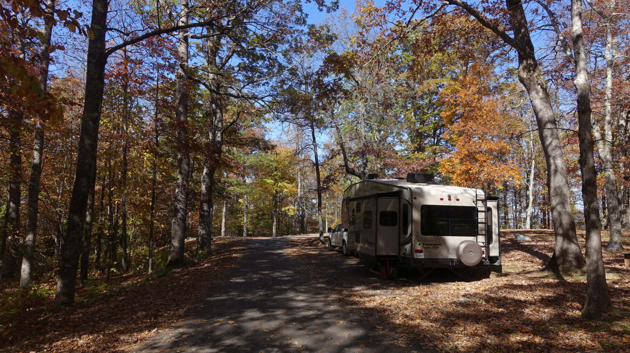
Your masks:
{"label": "shaded fallen-leaf ground between the road and the left-hand woods", "polygon": [[[16,307],[2,310],[2,352],[106,352],[123,350],[157,332],[173,329],[186,309],[200,300],[231,269],[238,266],[246,240],[214,238],[214,256],[166,273],[158,268],[146,273],[114,274],[108,281],[100,274],[77,289],[77,304],[54,310],[56,278],[38,283]],[[186,242],[186,253],[194,254],[195,241]],[[167,251],[167,249],[163,249]],[[13,290],[16,291],[16,290]],[[13,295],[12,295],[13,294]],[[38,300],[28,300],[37,295]]]}

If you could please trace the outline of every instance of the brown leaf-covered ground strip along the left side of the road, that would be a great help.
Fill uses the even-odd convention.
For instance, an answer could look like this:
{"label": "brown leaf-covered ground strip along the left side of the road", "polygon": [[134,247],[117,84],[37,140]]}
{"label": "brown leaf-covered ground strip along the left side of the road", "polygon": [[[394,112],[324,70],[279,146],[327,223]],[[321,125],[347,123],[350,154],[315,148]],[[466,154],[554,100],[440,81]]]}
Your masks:
{"label": "brown leaf-covered ground strip along the left side of the road", "polygon": [[[44,308],[21,313],[11,320],[11,325],[3,325],[0,350],[10,347],[11,351],[52,351],[50,348],[54,344],[57,352],[137,351],[135,345],[127,342],[144,342],[177,325],[186,308],[202,298],[209,286],[226,276],[227,269],[239,261],[242,255],[237,250],[244,242],[241,239],[215,239],[213,258],[146,283],[142,283],[147,279],[146,274],[115,277],[114,283],[120,283],[117,286],[129,289],[120,293],[113,291],[108,300],[91,300],[83,288],[77,291],[80,303],[76,307],[55,313]],[[217,273],[222,275],[217,276]],[[186,296],[180,295],[182,291],[187,293]],[[35,324],[42,320],[45,325]],[[221,323],[224,322],[219,319],[214,325]],[[125,333],[123,336],[122,332]],[[26,336],[31,338],[26,339]],[[121,340],[120,337],[124,338]]]}

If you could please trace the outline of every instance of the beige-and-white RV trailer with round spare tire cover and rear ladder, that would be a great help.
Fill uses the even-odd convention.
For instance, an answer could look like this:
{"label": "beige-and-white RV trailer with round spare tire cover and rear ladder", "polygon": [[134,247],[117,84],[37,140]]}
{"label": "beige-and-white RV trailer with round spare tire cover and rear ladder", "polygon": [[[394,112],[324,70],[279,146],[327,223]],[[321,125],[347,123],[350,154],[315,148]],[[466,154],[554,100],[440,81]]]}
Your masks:
{"label": "beige-and-white RV trailer with round spare tire cover and rear ladder", "polygon": [[497,200],[478,188],[440,185],[426,173],[392,180],[370,175],[345,190],[341,223],[350,252],[382,277],[395,277],[398,263],[425,274],[501,271]]}

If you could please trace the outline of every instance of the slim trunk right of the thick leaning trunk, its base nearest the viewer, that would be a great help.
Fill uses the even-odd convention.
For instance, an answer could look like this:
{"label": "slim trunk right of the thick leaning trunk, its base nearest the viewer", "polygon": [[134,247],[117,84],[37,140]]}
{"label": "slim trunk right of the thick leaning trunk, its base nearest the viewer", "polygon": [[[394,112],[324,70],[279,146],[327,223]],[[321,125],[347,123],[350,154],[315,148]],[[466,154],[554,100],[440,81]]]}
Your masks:
{"label": "slim trunk right of the thick leaning trunk, its base nearest the viewer", "polygon": [[[583,318],[599,318],[610,309],[610,296],[602,259],[602,234],[597,202],[597,172],[593,158],[591,132],[590,81],[582,33],[581,0],[571,0],[571,37],[575,57],[574,81],[578,95],[578,137],[580,138],[580,171],[587,237],[587,300],[582,309]],[[615,195],[615,198],[617,195]]]}

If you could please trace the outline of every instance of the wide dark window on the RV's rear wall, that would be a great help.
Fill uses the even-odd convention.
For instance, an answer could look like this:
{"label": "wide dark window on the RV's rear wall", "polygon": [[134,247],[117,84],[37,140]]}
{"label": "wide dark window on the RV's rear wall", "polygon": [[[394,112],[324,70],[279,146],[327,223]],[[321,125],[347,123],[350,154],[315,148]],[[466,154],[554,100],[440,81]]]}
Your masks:
{"label": "wide dark window on the RV's rear wall", "polygon": [[474,206],[422,205],[420,232],[423,236],[474,237],[477,219]]}

